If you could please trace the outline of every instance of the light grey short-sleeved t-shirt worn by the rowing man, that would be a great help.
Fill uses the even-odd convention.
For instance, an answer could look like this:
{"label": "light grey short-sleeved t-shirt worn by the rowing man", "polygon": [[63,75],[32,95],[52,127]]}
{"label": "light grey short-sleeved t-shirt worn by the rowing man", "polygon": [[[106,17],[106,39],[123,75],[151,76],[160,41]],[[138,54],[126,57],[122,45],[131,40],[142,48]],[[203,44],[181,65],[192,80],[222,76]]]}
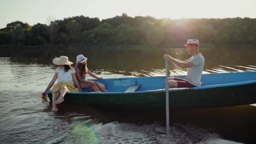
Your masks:
{"label": "light grey short-sleeved t-shirt worn by the rowing man", "polygon": [[189,61],[195,64],[195,66],[187,68],[187,77],[185,79],[192,85],[199,87],[201,86],[200,80],[202,77],[205,59],[201,53],[198,53],[197,55],[189,58]]}

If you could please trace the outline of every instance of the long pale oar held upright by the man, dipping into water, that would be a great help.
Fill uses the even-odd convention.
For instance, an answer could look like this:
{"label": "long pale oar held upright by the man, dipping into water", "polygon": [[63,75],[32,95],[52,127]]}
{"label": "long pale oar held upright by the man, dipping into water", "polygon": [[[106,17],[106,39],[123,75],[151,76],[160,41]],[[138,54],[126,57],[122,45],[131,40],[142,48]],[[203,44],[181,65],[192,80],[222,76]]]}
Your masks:
{"label": "long pale oar held upright by the man, dipping into water", "polygon": [[165,111],[166,111],[166,130],[170,128],[169,124],[169,85],[168,85],[168,60],[165,59]]}

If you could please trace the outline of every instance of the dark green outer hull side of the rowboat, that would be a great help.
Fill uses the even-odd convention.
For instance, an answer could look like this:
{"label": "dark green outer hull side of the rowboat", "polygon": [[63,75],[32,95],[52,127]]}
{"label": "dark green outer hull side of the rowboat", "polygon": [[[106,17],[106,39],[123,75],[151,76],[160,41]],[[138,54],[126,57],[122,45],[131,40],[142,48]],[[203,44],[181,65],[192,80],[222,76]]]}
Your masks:
{"label": "dark green outer hull side of the rowboat", "polygon": [[[170,89],[170,108],[213,108],[256,103],[256,83],[210,88]],[[52,99],[52,93],[48,93]],[[165,91],[67,93],[64,103],[122,108],[165,108]]]}

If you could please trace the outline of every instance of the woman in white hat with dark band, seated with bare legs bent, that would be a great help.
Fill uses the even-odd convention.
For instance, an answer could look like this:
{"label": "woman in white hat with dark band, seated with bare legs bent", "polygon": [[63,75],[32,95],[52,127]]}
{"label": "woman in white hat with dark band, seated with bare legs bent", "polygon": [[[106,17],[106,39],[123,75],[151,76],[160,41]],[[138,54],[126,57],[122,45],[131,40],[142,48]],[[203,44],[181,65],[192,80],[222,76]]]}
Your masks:
{"label": "woman in white hat with dark band, seated with bare legs bent", "polygon": [[101,77],[97,77],[87,68],[87,58],[82,54],[77,56],[77,65],[75,67],[77,80],[80,82],[81,88],[92,88],[93,91],[109,92],[100,83],[86,80],[86,74],[101,80]]}

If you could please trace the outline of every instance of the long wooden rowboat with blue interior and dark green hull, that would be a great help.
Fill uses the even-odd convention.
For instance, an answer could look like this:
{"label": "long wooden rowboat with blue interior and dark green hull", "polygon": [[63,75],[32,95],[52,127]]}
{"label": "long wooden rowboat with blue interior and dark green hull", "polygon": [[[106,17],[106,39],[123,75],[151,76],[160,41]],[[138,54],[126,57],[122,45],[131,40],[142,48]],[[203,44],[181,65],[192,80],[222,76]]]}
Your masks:
{"label": "long wooden rowboat with blue interior and dark green hull", "polygon": [[[174,76],[184,78],[184,75]],[[67,93],[64,103],[125,108],[165,108],[165,77],[94,80],[109,93]],[[256,103],[256,72],[203,74],[202,86],[169,89],[170,108],[213,108]],[[52,94],[48,92],[51,100]]]}

